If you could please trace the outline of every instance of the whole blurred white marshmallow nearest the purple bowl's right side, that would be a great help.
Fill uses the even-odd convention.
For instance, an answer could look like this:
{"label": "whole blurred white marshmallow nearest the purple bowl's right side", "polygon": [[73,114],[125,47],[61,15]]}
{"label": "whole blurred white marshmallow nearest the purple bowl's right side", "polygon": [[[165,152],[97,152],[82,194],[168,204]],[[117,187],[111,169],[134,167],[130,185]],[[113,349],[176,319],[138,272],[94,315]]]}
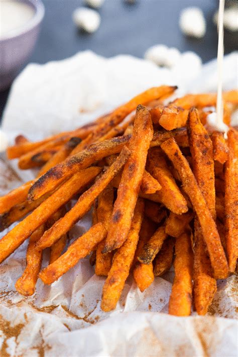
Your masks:
{"label": "whole blurred white marshmallow nearest the purple bowl's right side", "polygon": [[80,29],[93,33],[98,29],[101,18],[95,10],[78,8],[73,12],[73,21]]}

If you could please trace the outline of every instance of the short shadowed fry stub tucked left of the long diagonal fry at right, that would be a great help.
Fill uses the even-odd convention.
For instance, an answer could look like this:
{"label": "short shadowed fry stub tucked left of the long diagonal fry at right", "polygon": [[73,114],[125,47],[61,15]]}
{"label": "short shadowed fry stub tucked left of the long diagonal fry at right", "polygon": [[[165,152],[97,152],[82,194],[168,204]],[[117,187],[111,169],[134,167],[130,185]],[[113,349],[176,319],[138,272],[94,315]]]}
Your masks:
{"label": "short shadowed fry stub tucked left of the long diagonal fry at right", "polygon": [[170,212],[165,225],[166,233],[172,237],[178,238],[182,233],[184,233],[186,226],[189,224],[192,218],[192,212],[183,214],[175,214]]}

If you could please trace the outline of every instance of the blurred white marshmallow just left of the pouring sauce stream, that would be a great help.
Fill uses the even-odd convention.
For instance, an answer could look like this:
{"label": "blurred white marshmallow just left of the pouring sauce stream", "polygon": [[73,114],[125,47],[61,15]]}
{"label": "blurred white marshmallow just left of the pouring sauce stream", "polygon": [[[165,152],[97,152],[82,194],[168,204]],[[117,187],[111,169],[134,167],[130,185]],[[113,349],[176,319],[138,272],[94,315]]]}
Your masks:
{"label": "blurred white marshmallow just left of the pouring sauce stream", "polygon": [[181,31],[191,37],[202,38],[206,32],[206,22],[201,9],[190,7],[180,13],[179,27]]}

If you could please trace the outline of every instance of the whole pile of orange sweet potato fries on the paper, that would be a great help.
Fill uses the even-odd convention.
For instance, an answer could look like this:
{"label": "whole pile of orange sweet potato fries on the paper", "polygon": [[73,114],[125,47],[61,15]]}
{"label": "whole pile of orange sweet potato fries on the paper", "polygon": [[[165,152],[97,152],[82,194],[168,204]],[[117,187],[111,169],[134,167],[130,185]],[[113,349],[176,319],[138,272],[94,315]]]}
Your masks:
{"label": "whole pile of orange sweet potato fries on the paper", "polygon": [[[1,229],[20,221],[0,240],[0,263],[30,238],[20,294],[91,254],[95,274],[106,277],[104,311],[115,308],[130,272],[144,291],[172,264],[169,313],[190,315],[192,301],[198,314],[208,311],[216,279],[234,273],[237,260],[238,133],[230,116],[238,93],[223,93],[225,139],[206,125],[216,95],[164,104],[176,89],[148,89],[82,128],[35,143],[19,136],[8,148],[21,169],[40,167],[35,180],[0,197]],[[68,246],[69,230],[91,208],[91,228]]]}

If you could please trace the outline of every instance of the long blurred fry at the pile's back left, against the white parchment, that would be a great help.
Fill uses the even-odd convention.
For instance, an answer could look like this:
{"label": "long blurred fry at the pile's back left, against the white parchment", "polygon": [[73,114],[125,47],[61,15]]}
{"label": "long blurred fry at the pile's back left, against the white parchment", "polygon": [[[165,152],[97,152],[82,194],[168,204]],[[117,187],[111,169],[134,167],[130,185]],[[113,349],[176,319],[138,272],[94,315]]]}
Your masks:
{"label": "long blurred fry at the pile's back left, against the white parchment", "polygon": [[[69,132],[64,132],[60,134],[53,135],[51,137],[48,137],[44,140],[38,141],[38,142],[26,142],[21,145],[14,145],[10,146],[7,149],[7,156],[10,160],[19,158],[22,155],[25,155],[31,151],[36,150],[37,148],[42,148],[44,145],[49,144],[49,146],[54,146],[55,142],[57,141],[63,141],[62,138],[67,137],[70,139],[70,137],[79,137],[81,139],[86,138],[86,136],[91,132],[92,128],[95,127],[95,124],[91,124],[90,126],[87,127],[82,127],[80,129],[76,129],[74,131],[69,131]],[[76,134],[75,134],[76,133]]]}

